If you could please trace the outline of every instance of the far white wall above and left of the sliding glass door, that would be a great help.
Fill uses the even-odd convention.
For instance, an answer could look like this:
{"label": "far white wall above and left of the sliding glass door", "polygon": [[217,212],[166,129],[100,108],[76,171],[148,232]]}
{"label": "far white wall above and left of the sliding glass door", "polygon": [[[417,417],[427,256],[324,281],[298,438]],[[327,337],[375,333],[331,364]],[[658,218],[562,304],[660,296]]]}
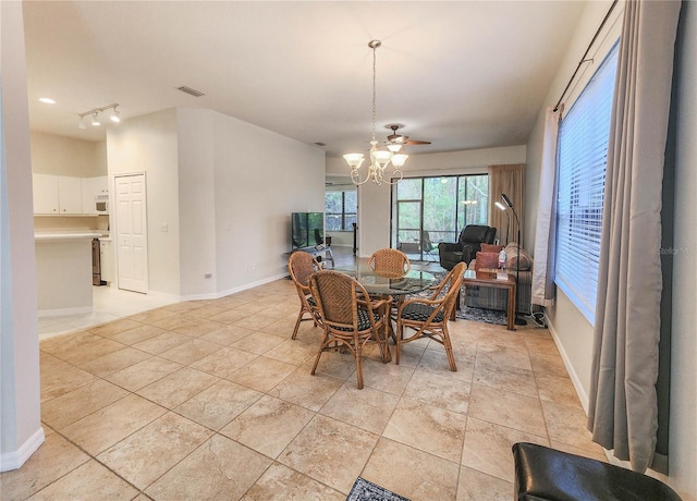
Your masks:
{"label": "far white wall above and left of the sliding glass door", "polygon": [[[411,155],[403,171],[405,178],[486,173],[489,166],[525,163],[525,146],[420,154]],[[343,158],[327,159],[327,175],[345,175],[348,170]],[[358,255],[360,257],[368,257],[379,248],[390,246],[390,193],[389,185],[378,186],[372,182],[358,187]],[[353,245],[353,237],[351,245]]]}

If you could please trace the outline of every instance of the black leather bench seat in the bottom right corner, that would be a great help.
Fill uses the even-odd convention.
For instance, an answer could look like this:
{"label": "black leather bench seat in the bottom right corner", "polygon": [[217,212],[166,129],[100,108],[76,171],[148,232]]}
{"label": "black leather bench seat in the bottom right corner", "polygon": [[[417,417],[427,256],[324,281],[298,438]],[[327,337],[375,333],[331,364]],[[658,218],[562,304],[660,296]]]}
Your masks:
{"label": "black leather bench seat in the bottom right corner", "polygon": [[513,445],[515,500],[680,501],[665,484],[631,469],[535,443]]}

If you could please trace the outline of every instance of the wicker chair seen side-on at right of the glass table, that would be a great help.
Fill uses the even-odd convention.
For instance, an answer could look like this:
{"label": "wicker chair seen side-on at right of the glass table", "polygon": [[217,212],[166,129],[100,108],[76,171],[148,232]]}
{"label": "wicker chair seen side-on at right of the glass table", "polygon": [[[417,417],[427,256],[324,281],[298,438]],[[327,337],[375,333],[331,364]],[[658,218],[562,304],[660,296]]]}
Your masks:
{"label": "wicker chair seen side-on at right of the glass table", "polygon": [[[451,318],[455,300],[462,285],[463,274],[467,265],[458,262],[445,276],[440,284],[433,290],[429,300],[414,297],[406,300],[396,314],[396,357],[395,363],[400,363],[400,350],[402,344],[411,343],[419,338],[430,338],[445,347],[450,370],[456,371],[453,347],[448,332],[448,321]],[[448,292],[443,294],[448,286]],[[440,297],[439,297],[440,296]],[[405,328],[414,329],[416,332],[409,338],[404,338]]]}

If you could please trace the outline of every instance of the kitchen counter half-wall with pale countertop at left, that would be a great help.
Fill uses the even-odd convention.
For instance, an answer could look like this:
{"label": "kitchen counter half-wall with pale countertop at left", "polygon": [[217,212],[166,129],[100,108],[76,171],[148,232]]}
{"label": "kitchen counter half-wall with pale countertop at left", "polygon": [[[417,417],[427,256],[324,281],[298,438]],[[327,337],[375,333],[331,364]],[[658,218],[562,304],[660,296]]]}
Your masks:
{"label": "kitchen counter half-wall with pale countertop at left", "polygon": [[39,317],[93,311],[91,241],[98,230],[36,232]]}

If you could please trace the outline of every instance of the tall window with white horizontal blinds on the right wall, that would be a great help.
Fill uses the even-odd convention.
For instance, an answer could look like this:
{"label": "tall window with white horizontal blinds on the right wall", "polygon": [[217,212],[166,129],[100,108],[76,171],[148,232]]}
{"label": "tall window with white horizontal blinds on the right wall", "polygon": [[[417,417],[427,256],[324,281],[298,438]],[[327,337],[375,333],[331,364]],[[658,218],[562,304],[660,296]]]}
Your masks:
{"label": "tall window with white horizontal blinds on the right wall", "polygon": [[595,323],[617,46],[563,118],[558,138],[555,283]]}

